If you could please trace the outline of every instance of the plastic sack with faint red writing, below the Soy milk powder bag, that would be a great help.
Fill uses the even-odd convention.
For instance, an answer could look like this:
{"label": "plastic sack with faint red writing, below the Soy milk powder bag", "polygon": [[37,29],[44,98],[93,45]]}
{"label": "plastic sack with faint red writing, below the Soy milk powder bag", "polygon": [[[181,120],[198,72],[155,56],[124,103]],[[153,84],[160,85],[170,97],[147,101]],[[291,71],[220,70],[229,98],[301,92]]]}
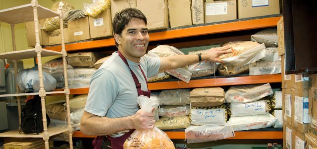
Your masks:
{"label": "plastic sack with faint red writing, below the Soy milk powder bag", "polygon": [[232,126],[203,125],[190,126],[185,129],[188,144],[222,140],[234,137]]}

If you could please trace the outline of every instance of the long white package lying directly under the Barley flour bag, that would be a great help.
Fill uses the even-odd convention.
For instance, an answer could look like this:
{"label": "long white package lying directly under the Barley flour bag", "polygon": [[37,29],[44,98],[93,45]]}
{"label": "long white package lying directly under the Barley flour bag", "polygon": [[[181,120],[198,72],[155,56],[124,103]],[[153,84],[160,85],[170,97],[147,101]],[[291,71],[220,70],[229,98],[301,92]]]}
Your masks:
{"label": "long white package lying directly under the Barley flour bag", "polygon": [[271,127],[276,118],[269,114],[230,117],[227,125],[232,126],[234,131],[251,130]]}

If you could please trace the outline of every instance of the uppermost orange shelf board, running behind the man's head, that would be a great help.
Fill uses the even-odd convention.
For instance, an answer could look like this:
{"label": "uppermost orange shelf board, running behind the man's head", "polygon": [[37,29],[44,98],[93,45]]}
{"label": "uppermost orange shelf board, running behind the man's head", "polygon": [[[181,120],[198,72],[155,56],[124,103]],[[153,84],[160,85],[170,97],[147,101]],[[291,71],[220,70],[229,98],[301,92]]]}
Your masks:
{"label": "uppermost orange shelf board, running behind the man's head", "polygon": [[[232,31],[241,31],[241,30],[250,30],[257,28],[266,28],[276,26],[277,21],[281,16],[269,17],[269,18],[260,18],[260,19],[251,19],[251,20],[242,20],[234,22],[226,22],[221,24],[211,24],[205,26],[195,26],[195,27],[186,27],[186,28],[177,28],[177,29],[167,29],[166,31],[152,32],[149,33],[150,41],[159,41],[159,40],[168,40],[176,39],[183,37],[193,37],[201,36],[207,34],[217,34],[225,33]],[[113,38],[93,40],[93,41],[84,41],[77,43],[69,43],[65,45],[66,51],[79,51],[85,49],[93,48],[102,48],[115,46]],[[60,51],[61,46],[52,46],[45,47],[45,49]]]}

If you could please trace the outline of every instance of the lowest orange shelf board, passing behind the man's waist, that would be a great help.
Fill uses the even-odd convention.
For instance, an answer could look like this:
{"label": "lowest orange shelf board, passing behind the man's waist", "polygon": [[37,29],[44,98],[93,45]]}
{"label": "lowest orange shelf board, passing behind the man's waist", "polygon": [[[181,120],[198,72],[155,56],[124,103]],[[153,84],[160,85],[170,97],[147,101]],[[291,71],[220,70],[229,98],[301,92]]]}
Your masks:
{"label": "lowest orange shelf board, passing behind the man's waist", "polygon": [[[170,139],[185,139],[185,132],[165,132]],[[87,136],[80,131],[75,131],[74,138],[95,138]],[[235,137],[228,139],[283,139],[282,131],[255,131],[255,132],[235,132]]]}

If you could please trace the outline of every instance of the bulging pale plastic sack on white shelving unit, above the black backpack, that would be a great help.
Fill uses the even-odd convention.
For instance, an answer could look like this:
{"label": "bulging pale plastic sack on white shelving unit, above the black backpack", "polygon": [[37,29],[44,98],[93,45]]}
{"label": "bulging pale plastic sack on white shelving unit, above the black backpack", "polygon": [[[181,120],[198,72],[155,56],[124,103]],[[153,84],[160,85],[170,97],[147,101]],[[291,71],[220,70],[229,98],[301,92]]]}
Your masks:
{"label": "bulging pale plastic sack on white shelving unit, above the black backpack", "polygon": [[[17,85],[22,92],[38,92],[40,90],[40,78],[37,68],[24,69],[17,74]],[[43,72],[43,84],[46,91],[56,88],[56,79],[46,72]]]}

